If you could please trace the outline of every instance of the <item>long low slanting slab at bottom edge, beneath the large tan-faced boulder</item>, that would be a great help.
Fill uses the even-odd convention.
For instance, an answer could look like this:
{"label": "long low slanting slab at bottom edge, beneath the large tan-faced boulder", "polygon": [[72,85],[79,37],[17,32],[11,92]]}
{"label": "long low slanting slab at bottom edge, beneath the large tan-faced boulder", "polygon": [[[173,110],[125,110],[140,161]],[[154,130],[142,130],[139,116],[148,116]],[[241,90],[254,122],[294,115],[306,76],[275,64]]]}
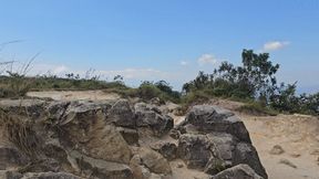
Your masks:
{"label": "long low slanting slab at bottom edge, beneath the large tan-faced boulder", "polygon": [[132,170],[124,164],[91,158],[75,150],[69,155],[75,159],[82,170],[90,170],[94,177],[110,179],[133,178]]}

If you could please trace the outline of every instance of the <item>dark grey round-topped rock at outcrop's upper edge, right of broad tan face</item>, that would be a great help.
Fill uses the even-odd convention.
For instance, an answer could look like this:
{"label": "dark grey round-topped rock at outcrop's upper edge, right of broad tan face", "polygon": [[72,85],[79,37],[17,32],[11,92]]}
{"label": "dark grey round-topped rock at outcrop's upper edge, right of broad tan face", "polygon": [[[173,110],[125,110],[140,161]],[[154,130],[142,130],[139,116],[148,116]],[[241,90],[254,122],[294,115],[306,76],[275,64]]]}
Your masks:
{"label": "dark grey round-topped rock at outcrop's upper edge, right of broad tan face", "polygon": [[120,99],[111,107],[106,115],[106,122],[121,127],[136,128],[134,113],[126,99]]}

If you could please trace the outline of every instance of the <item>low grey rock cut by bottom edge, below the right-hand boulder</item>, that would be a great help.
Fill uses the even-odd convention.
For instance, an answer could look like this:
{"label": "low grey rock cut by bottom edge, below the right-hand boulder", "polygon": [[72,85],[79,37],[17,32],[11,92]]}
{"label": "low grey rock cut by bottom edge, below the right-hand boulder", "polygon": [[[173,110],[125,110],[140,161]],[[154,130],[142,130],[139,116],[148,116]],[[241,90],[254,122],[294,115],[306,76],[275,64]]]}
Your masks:
{"label": "low grey rock cut by bottom edge, below the right-hand boulder", "polygon": [[238,165],[228,168],[210,179],[264,179],[258,176],[248,165]]}

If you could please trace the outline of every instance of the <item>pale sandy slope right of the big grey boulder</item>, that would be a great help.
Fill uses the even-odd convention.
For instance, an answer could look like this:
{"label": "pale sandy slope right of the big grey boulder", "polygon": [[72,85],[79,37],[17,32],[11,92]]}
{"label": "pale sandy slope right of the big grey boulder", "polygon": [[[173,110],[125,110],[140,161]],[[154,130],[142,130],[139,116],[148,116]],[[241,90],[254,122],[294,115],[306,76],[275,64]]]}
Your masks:
{"label": "pale sandy slope right of the big grey boulder", "polygon": [[[310,116],[239,115],[265,166],[269,179],[319,179],[319,119]],[[269,151],[281,146],[281,155]],[[288,160],[296,168],[280,164]]]}

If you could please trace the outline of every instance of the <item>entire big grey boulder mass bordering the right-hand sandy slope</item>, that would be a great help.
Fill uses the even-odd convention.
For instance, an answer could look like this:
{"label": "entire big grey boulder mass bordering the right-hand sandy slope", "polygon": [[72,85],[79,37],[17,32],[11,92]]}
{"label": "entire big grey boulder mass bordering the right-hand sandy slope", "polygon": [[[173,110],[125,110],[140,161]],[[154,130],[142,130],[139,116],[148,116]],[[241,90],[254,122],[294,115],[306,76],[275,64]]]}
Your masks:
{"label": "entire big grey boulder mass bordering the right-hand sandy slope", "polygon": [[184,134],[178,139],[178,156],[188,168],[216,175],[246,164],[263,178],[268,178],[244,123],[229,110],[194,106],[176,129]]}

